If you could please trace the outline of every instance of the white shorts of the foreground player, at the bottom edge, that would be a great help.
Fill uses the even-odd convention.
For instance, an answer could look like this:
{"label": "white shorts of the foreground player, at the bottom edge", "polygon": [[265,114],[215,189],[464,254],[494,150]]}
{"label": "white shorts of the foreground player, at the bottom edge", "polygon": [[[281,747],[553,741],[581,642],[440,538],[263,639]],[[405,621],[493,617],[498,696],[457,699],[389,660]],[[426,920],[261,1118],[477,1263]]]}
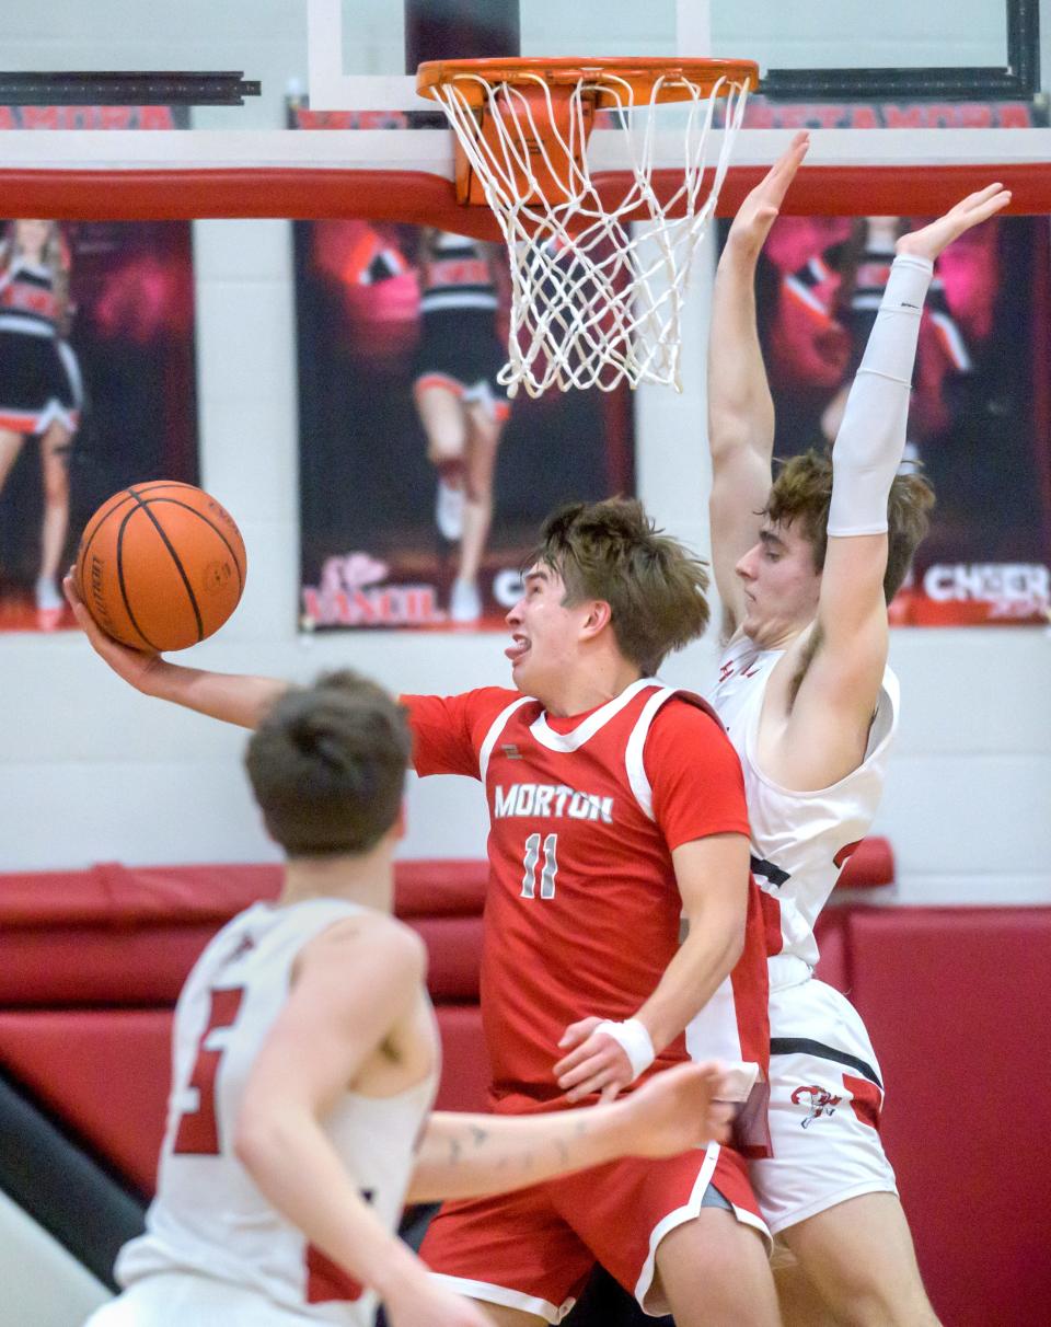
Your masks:
{"label": "white shorts of the foreground player, at the bottom edge", "polygon": [[372,1295],[353,1304],[315,1304],[296,1312],[245,1286],[165,1271],[133,1282],[96,1310],[84,1327],[372,1327],[374,1316]]}

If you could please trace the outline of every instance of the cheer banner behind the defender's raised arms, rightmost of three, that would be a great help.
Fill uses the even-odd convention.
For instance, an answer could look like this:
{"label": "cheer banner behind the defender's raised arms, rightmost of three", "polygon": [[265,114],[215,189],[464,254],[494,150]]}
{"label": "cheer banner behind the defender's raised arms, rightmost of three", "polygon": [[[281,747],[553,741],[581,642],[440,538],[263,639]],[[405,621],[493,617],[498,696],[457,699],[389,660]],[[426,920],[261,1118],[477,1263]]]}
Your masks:
{"label": "cheer banner behind the defender's raised arms, rightmost of three", "polygon": [[[780,218],[756,299],[775,455],[835,439],[916,218]],[[906,463],[937,506],[898,625],[1046,624],[1051,612],[1051,281],[1046,216],[998,218],[938,260],[920,330]]]}

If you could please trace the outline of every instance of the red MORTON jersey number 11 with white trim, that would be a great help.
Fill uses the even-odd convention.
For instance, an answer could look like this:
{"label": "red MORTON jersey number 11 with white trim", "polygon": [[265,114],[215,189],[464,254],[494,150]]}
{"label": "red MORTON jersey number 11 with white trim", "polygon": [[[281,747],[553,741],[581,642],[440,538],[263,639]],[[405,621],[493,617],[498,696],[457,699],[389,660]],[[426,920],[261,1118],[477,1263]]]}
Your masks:
{"label": "red MORTON jersey number 11 with white trim", "polygon": [[[482,1011],[496,1099],[560,1096],[567,1024],[625,1019],[679,945],[671,852],[748,832],[738,758],[703,701],[644,678],[584,715],[487,687],[402,697],[421,775],[480,779],[490,811]],[[766,1070],[763,926],[750,881],[744,951],[723,1044]],[[685,1059],[682,1036],[656,1067]]]}

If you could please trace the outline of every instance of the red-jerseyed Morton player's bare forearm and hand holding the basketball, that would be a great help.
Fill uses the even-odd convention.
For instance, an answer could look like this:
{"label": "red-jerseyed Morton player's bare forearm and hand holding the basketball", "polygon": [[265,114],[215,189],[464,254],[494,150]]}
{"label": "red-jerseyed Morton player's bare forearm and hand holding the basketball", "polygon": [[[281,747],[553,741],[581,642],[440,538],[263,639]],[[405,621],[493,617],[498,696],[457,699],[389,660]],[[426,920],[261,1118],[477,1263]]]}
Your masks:
{"label": "red-jerseyed Morton player's bare forearm and hand holding the basketball", "polygon": [[106,636],[98,626],[77,593],[72,575],[62,581],[62,589],[77,625],[96,654],[143,695],[171,701],[226,723],[255,729],[271,705],[288,689],[287,682],[275,678],[210,673],[171,664],[161,654],[133,650]]}

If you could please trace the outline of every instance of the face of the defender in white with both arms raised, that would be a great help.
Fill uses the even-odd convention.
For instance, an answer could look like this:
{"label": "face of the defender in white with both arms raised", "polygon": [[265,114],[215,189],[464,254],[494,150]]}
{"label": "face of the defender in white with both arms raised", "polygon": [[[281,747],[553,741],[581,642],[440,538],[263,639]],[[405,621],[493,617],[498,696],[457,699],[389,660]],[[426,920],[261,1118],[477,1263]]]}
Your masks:
{"label": "face of the defender in white with both arms raised", "polygon": [[744,589],[744,634],[763,649],[784,645],[813,621],[821,573],[813,548],[791,524],[764,524],[734,568]]}

